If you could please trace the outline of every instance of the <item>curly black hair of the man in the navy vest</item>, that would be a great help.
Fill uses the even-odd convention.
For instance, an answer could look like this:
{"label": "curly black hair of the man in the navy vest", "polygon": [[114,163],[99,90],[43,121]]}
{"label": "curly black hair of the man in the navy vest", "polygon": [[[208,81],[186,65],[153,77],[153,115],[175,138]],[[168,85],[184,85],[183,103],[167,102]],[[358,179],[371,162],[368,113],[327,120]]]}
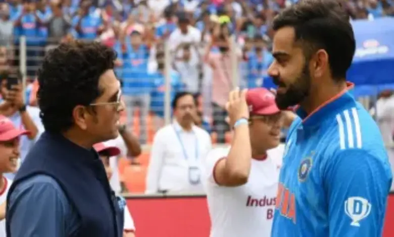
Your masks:
{"label": "curly black hair of the man in the navy vest", "polygon": [[48,51],[37,72],[37,100],[46,131],[60,133],[72,127],[73,109],[103,93],[98,79],[114,68],[115,60],[115,51],[98,42],[72,41]]}

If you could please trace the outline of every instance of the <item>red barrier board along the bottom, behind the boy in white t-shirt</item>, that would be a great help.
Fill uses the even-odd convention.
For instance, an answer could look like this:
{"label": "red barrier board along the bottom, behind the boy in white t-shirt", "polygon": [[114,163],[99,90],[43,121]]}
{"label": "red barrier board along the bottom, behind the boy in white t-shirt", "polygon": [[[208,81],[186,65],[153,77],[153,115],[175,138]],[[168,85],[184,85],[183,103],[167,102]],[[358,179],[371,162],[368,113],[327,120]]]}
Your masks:
{"label": "red barrier board along the bottom, behind the boy in white t-shirt", "polygon": [[[125,198],[139,237],[209,236],[211,223],[203,195],[125,195]],[[394,193],[388,198],[383,237],[394,236],[392,222]]]}

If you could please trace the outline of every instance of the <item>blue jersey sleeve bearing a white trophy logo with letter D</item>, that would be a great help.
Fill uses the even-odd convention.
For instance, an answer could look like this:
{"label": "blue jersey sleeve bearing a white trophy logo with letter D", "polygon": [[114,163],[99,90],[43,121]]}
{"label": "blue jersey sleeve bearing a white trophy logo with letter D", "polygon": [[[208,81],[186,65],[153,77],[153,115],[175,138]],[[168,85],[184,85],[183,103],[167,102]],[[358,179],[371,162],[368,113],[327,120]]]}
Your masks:
{"label": "blue jersey sleeve bearing a white trophy logo with letter D", "polygon": [[381,236],[391,171],[386,157],[342,150],[327,161],[329,236]]}

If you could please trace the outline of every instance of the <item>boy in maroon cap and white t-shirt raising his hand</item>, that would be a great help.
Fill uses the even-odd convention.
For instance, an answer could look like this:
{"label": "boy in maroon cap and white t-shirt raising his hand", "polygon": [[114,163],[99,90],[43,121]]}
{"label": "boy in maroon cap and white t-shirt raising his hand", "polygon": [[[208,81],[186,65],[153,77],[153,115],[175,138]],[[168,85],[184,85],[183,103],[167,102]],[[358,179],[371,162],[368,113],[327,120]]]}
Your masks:
{"label": "boy in maroon cap and white t-shirt raising his hand", "polygon": [[216,148],[205,159],[210,237],[269,237],[284,113],[265,88],[231,91],[226,109],[234,129],[231,147]]}

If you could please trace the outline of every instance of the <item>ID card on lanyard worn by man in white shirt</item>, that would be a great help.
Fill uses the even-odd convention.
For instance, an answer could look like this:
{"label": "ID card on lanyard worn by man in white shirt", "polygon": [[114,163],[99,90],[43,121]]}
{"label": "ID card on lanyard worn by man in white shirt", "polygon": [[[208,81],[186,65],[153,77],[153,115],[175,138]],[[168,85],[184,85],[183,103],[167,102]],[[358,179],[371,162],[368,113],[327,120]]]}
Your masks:
{"label": "ID card on lanyard worn by man in white shirt", "polygon": [[185,160],[187,160],[187,162],[189,163],[189,167],[188,167],[189,182],[190,182],[191,185],[198,185],[198,184],[200,184],[200,180],[201,180],[201,172],[200,172],[200,168],[196,165],[197,160],[199,159],[199,140],[197,139],[197,135],[194,132],[192,132],[193,135],[194,135],[194,141],[195,141],[195,144],[194,144],[194,149],[195,149],[194,161],[195,162],[194,162],[194,165],[190,165],[190,161],[191,161],[190,159],[192,157],[189,157],[187,155],[187,151],[186,151],[186,148],[185,148],[185,146],[184,146],[184,144],[182,142],[182,139],[180,137],[179,131],[176,130],[175,127],[173,127],[173,128],[174,128],[176,137],[178,138],[179,144],[180,144],[180,146],[182,148],[183,158]]}

